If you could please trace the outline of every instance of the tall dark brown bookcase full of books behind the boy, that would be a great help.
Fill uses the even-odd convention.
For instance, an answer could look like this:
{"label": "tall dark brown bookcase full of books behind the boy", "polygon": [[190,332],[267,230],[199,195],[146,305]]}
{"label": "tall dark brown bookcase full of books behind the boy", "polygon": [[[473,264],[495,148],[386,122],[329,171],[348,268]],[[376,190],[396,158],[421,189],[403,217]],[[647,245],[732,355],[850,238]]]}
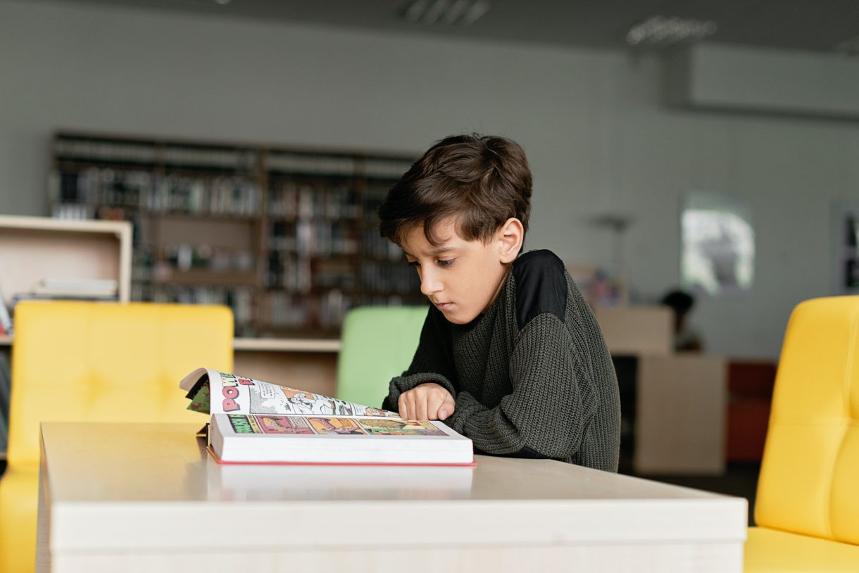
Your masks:
{"label": "tall dark brown bookcase full of books behind the boy", "polygon": [[337,338],[349,308],[423,303],[376,223],[412,160],[63,131],[49,200],[133,223],[131,300],[227,304],[240,338]]}

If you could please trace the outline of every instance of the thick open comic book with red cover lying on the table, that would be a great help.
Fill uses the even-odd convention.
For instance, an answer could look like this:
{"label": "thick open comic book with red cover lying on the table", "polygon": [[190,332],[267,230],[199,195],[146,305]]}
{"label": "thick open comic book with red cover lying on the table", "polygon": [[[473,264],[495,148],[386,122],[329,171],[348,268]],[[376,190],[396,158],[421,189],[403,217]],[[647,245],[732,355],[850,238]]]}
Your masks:
{"label": "thick open comic book with red cover lying on the table", "polygon": [[209,449],[220,463],[472,465],[472,441],[437,420],[210,369],[180,387],[189,410],[210,414]]}

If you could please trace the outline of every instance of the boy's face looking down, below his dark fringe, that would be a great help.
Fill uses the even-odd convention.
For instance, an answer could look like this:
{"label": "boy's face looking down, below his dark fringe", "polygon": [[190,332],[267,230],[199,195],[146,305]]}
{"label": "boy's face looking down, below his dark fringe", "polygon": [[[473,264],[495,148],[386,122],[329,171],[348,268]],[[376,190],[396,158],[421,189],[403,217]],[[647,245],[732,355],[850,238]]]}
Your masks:
{"label": "boy's face looking down, below his dark fringe", "polygon": [[476,319],[501,290],[509,262],[521,245],[520,240],[511,246],[503,229],[488,243],[466,241],[456,233],[454,221],[448,219],[436,226],[436,235],[442,239],[438,247],[427,241],[423,225],[405,234],[403,250],[409,265],[417,268],[421,292],[450,322],[467,324]]}

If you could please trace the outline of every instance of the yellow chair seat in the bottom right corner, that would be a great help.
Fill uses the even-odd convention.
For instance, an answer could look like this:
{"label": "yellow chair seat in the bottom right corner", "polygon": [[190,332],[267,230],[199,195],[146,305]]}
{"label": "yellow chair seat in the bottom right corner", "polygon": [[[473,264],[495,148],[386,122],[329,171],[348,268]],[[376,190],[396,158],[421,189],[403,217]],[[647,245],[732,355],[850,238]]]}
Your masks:
{"label": "yellow chair seat in the bottom right corner", "polygon": [[859,546],[765,527],[749,527],[743,561],[746,573],[856,573],[859,571]]}

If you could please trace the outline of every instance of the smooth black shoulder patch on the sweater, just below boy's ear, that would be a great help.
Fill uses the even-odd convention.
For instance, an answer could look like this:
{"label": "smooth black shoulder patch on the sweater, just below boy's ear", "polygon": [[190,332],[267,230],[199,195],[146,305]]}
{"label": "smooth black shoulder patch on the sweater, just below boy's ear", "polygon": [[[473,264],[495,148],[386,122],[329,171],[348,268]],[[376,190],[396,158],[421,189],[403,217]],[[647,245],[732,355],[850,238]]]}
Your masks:
{"label": "smooth black shoulder patch on the sweater, just below boy's ear", "polygon": [[535,316],[551,313],[564,320],[567,278],[564,263],[551,251],[531,251],[513,263],[516,283],[516,321],[519,330]]}

